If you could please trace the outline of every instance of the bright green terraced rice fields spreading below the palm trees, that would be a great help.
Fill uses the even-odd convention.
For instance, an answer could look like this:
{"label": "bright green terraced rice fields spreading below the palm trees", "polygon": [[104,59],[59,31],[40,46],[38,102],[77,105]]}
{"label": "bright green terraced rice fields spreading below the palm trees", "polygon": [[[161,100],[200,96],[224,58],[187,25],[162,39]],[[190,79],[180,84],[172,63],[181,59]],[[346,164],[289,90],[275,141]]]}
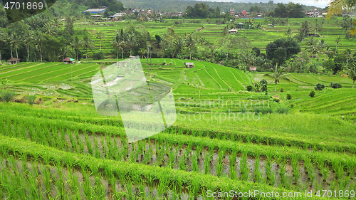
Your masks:
{"label": "bright green terraced rice fields spreading below the palm trees", "polygon": [[[209,194],[256,190],[300,192],[299,199],[310,199],[303,196],[308,190],[313,199],[324,199],[318,191],[345,196],[347,190],[343,199],[355,199],[356,105],[350,80],[292,73],[276,93],[273,83],[267,94],[253,93],[245,89],[251,80],[271,79],[199,61],[188,69],[184,61],[189,60],[152,59],[153,73],[147,73],[147,60],[141,60],[152,85],[171,85],[177,121],[132,143],[120,115],[96,112],[88,84],[100,63],[115,60],[0,68],[17,100],[28,93],[38,100],[38,105],[0,102],[0,198],[216,199]],[[341,89],[328,87],[335,81]],[[326,88],[310,98],[315,83]],[[130,119],[131,128],[140,133],[143,126],[136,120]]]}

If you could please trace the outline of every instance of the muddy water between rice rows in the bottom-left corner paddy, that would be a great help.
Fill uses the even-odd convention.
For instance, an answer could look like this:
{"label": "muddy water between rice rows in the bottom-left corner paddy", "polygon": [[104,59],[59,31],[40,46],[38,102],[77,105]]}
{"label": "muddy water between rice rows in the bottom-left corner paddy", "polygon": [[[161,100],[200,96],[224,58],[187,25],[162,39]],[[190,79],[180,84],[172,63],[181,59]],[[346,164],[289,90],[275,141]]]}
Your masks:
{"label": "muddy water between rice rows in the bottom-left corner paddy", "polygon": [[[14,169],[12,164],[9,164],[9,159],[4,159],[4,158],[0,157],[0,170],[5,172],[4,169],[7,169],[11,172],[11,174],[14,174],[14,170],[15,170],[16,172],[19,172],[19,174],[21,174],[21,177],[23,179],[36,179],[36,189],[37,189],[38,193],[41,192],[44,199],[49,199],[48,195],[51,196],[51,198],[55,198],[55,199],[58,198],[57,181],[60,180],[61,178],[63,179],[63,187],[65,189],[65,194],[68,194],[68,196],[66,196],[65,199],[67,199],[67,197],[68,197],[68,199],[75,199],[75,194],[74,194],[75,189],[73,189],[75,187],[78,187],[78,191],[80,193],[81,198],[85,199],[85,191],[83,189],[85,179],[84,179],[83,173],[80,172],[78,169],[71,170],[71,174],[73,176],[76,175],[77,180],[78,180],[78,185],[73,186],[72,182],[70,181],[70,178],[68,177],[68,174],[70,173],[68,171],[68,168],[66,168],[66,167],[57,168],[55,166],[43,165],[40,162],[35,162],[35,163],[36,164],[33,165],[32,162],[27,162],[26,170],[23,170],[22,161],[19,159],[16,159],[16,169]],[[46,186],[44,184],[44,181],[45,181],[44,170],[49,170],[49,172],[51,173],[51,178],[50,178],[51,189],[49,190],[49,193],[47,193]],[[58,171],[61,171],[61,175],[58,174]],[[37,172],[38,175],[33,176],[28,172],[31,172],[31,174],[36,174],[35,172]],[[100,183],[104,187],[104,191],[103,191],[104,199],[117,199],[117,197],[115,197],[115,194],[113,194],[113,185],[109,184],[110,181],[108,181],[108,179],[101,176],[100,174],[96,174],[96,175],[98,175],[100,177],[94,177],[92,174],[88,175],[88,180],[90,182],[90,186],[93,189],[96,189],[97,181],[99,180]],[[9,181],[11,183],[11,179],[9,179]],[[28,183],[27,182],[23,183],[23,185],[21,185],[21,187],[26,189],[26,196],[30,196],[30,191],[29,191],[30,186],[28,186],[26,184],[28,184]],[[130,189],[130,187],[128,187],[125,184],[120,184],[120,182],[117,180],[117,182],[115,184],[115,189],[116,189],[116,191],[127,193],[128,189]],[[130,192],[135,196],[135,199],[142,199],[142,196],[140,196],[142,193],[141,189],[144,189],[144,191],[145,191],[145,194],[146,194],[145,199],[150,198],[150,196],[152,197],[152,199],[159,199],[159,196],[157,196],[159,194],[159,192],[157,191],[156,188],[151,188],[151,187],[145,186],[145,185],[132,185]],[[92,191],[92,192],[96,193],[98,191]],[[6,194],[5,194],[5,196],[6,196]],[[167,197],[172,196],[172,191],[167,191],[167,193],[164,193],[164,196],[167,196]],[[179,197],[180,197],[180,199],[184,199],[184,200],[189,199],[189,196],[188,196],[188,194],[185,194],[185,191],[183,194],[180,194]],[[125,196],[123,196],[120,199],[127,199],[127,198],[125,198]],[[202,197],[200,196],[198,198],[198,200],[202,200]]]}

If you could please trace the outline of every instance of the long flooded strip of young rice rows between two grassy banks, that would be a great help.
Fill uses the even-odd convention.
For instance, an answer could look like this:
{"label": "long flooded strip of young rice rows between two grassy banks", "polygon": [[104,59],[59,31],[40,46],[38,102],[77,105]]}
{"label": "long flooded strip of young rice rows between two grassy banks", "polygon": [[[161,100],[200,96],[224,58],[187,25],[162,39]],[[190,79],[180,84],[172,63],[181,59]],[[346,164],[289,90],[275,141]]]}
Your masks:
{"label": "long flooded strip of young rice rows between two grassy banks", "polygon": [[[32,140],[38,144],[55,147],[65,152],[89,155],[97,159],[141,163],[184,172],[211,174],[216,177],[228,177],[233,180],[269,184],[283,189],[298,188],[300,191],[305,191],[306,189],[312,189],[313,191],[330,189],[333,191],[335,189],[355,189],[356,184],[355,179],[353,179],[355,177],[355,160],[350,159],[348,166],[340,162],[328,162],[328,160],[325,160],[325,157],[337,156],[337,153],[333,152],[318,150],[313,152],[310,149],[298,149],[305,151],[305,153],[313,154],[314,157],[311,159],[310,157],[300,158],[297,154],[291,154],[289,157],[278,157],[270,149],[265,154],[256,152],[254,156],[251,156],[248,150],[239,149],[239,146],[246,146],[246,144],[241,142],[234,142],[234,145],[236,145],[235,149],[224,148],[224,146],[218,149],[201,144],[194,145],[193,143],[164,140],[163,134],[128,144],[122,128],[121,132],[112,135],[103,132],[90,132],[90,130],[83,131],[78,129],[78,127],[74,127],[74,125],[70,127],[68,125],[51,124],[50,122],[43,124],[36,122],[36,120],[28,123],[21,122],[19,119],[16,121],[14,118],[8,118],[7,120],[5,118],[4,121],[0,120],[0,128],[4,130],[4,135],[7,137]],[[172,135],[168,137],[172,137]],[[205,140],[211,139],[205,138]],[[248,145],[251,147],[256,146],[256,144],[247,144],[246,147],[249,147]],[[348,157],[352,156],[345,155],[346,159]],[[58,171],[56,172],[57,175],[53,175],[54,177],[58,176]],[[39,170],[37,174],[41,173],[43,174]],[[85,176],[87,175],[77,174],[77,177]],[[89,184],[85,183],[86,179],[82,181],[83,186]],[[91,178],[92,181],[95,181],[95,185],[98,185],[97,187],[100,187],[102,191],[105,190],[105,196],[108,196],[108,190],[110,189],[103,189],[103,185],[108,187],[108,181],[100,180],[103,182],[100,185],[96,179],[99,178]],[[119,187],[121,189],[130,189],[130,184],[125,184],[125,186],[118,184],[117,188]],[[140,188],[140,186],[138,187]],[[51,188],[52,191],[53,186]],[[58,187],[54,186],[54,188],[58,192]],[[84,190],[82,188],[76,192],[80,193],[84,192]],[[136,192],[137,186],[131,187],[131,190]],[[145,186],[145,190],[148,191],[149,188]],[[155,192],[145,193],[154,196],[159,193],[159,188],[150,188],[150,190]],[[138,191],[141,192],[141,189],[138,189]],[[184,194],[182,194],[182,198],[187,199],[188,196],[185,195],[184,197]]]}

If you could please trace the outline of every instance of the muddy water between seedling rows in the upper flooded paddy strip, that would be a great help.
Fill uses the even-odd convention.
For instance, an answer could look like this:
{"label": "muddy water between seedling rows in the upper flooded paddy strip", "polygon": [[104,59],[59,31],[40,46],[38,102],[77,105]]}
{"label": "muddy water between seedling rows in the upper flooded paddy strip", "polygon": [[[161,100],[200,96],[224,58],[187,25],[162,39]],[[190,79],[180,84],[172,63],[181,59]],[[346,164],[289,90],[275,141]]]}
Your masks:
{"label": "muddy water between seedling rows in the upper flooded paddy strip", "polygon": [[[72,132],[72,136],[74,139],[74,143],[78,142],[83,142],[84,144],[84,151],[80,152],[79,150],[79,145],[77,147],[77,149],[75,150],[74,147],[71,146],[70,144],[70,137],[69,135],[66,133],[65,137],[66,137],[66,150],[69,152],[80,152],[80,153],[84,153],[84,154],[88,154],[88,146],[86,145],[86,140],[85,140],[85,136],[81,133],[78,134],[78,140],[76,138],[76,135]],[[58,132],[58,137],[61,137],[61,134]],[[127,149],[127,155],[125,156],[125,161],[130,161],[132,159],[131,155],[132,154],[136,154],[136,152],[138,152],[138,143],[135,142],[135,149],[132,148],[132,144],[123,144],[121,142],[120,137],[115,137],[115,145],[114,145],[114,137],[110,138],[110,142],[107,141],[108,137],[104,137],[104,136],[100,136],[100,135],[88,135],[88,141],[90,141],[90,144],[93,148],[93,150],[95,149],[95,142],[94,142],[94,138],[98,143],[98,150],[100,152],[100,158],[102,159],[109,159],[108,157],[108,143],[112,144],[112,147],[115,146],[117,149],[114,150],[115,152],[112,153],[122,153],[122,150],[124,149],[124,147],[126,147]],[[103,144],[102,144],[103,143]],[[142,163],[142,164],[149,164],[149,165],[159,165],[161,166],[161,162],[157,162],[157,158],[159,158],[159,154],[161,152],[160,147],[155,144],[154,140],[150,140],[150,141],[145,141],[144,144],[144,148],[143,151],[140,151],[137,156],[137,159],[135,157],[135,159],[132,159],[133,162],[138,162],[138,163]],[[104,152],[104,148],[105,147],[105,152]],[[162,144],[162,148],[165,149],[164,155],[163,155],[163,159],[162,159],[162,167],[169,167],[168,163],[169,163],[169,152],[176,152],[175,157],[174,157],[174,165],[172,168],[174,169],[179,169],[179,159],[181,157],[184,157],[184,154],[186,154],[187,152],[187,146],[182,146],[182,147],[178,147],[177,145],[164,145]],[[168,151],[166,149],[169,149]],[[192,158],[194,154],[197,154],[197,149],[195,149],[195,147],[193,147],[192,151],[189,151],[190,153],[187,154],[187,164],[186,164],[186,171],[187,172],[192,172]],[[147,154],[150,155],[150,159],[148,159],[148,162],[144,162],[145,161],[145,157],[147,156]],[[204,173],[204,160],[205,157],[209,154],[208,149],[204,148],[201,150],[201,154],[199,154],[198,156],[198,164],[199,164],[199,172],[200,173]],[[111,159],[115,159],[115,157],[111,157]],[[121,157],[122,160],[122,157]],[[159,160],[159,159],[158,159]],[[212,154],[212,160],[211,163],[209,164],[209,174],[215,175],[216,176],[216,165],[218,164],[219,161],[219,153],[218,152],[214,152]],[[225,156],[222,159],[223,162],[223,169],[222,169],[222,177],[230,177],[230,165],[229,165],[229,154],[226,153]],[[235,167],[236,167],[236,179],[242,179],[242,175],[241,175],[241,162],[242,162],[242,157],[241,156],[237,156],[236,157],[236,161],[235,161]],[[255,171],[255,159],[253,157],[248,157],[247,160],[247,166],[248,166],[248,181],[254,181],[254,171]],[[335,178],[335,173],[333,173],[332,171],[329,172],[329,177],[328,177],[328,181],[323,181],[323,176],[321,175],[321,173],[319,172],[319,170],[317,169],[318,167],[315,166],[315,164],[313,165],[313,169],[315,170],[315,181],[313,183],[312,186],[310,186],[310,181],[308,179],[308,174],[305,172],[305,167],[303,165],[303,162],[300,162],[299,164],[299,170],[300,170],[300,178],[298,180],[298,185],[300,185],[300,183],[302,185],[306,186],[306,189],[310,190],[313,189],[315,190],[315,186],[316,183],[319,185],[318,189],[330,189],[330,184],[332,183],[333,179]],[[258,169],[260,170],[260,172],[263,174],[263,177],[266,179],[266,159],[261,157],[261,161],[259,164]],[[276,162],[272,162],[271,163],[271,169],[272,169],[272,173],[276,174],[276,184],[274,184],[273,186],[279,186],[279,184],[281,184],[281,177],[280,177],[280,167],[279,164],[276,164]],[[286,176],[288,179],[288,183],[290,185],[292,185],[294,183],[294,178],[293,178],[293,167],[290,163],[286,164]],[[343,175],[344,177],[347,176],[346,173],[344,173]],[[265,180],[266,181],[266,180]],[[350,183],[352,185],[355,185],[355,180],[351,179]],[[347,184],[347,187],[350,186],[350,183]],[[321,184],[321,187],[320,187]]]}

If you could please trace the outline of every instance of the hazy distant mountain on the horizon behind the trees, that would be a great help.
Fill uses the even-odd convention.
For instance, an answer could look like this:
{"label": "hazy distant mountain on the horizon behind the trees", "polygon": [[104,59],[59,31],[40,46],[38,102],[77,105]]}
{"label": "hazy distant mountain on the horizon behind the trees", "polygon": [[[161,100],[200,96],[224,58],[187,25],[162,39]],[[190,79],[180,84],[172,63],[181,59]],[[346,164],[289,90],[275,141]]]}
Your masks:
{"label": "hazy distant mountain on the horizon behind the trees", "polygon": [[[233,0],[233,1],[241,1],[241,0]],[[266,1],[266,0],[252,0],[252,1]],[[127,8],[131,9],[155,9],[159,11],[172,11],[172,12],[180,12],[185,11],[187,6],[194,6],[198,3],[198,1],[177,1],[177,0],[121,0],[122,4]],[[236,3],[236,2],[221,2],[221,1],[199,1],[207,4],[209,8],[219,9],[222,11],[230,11],[230,9],[235,9],[235,11],[246,10],[249,11],[251,6],[261,7],[261,11],[271,11],[276,8],[277,3],[273,1],[268,1],[266,3]],[[299,2],[299,1],[298,1]],[[295,3],[298,3],[295,2]],[[311,2],[311,1],[310,1]],[[288,2],[287,2],[288,3]],[[305,11],[311,11],[313,9],[320,9],[316,6],[303,6]]]}

